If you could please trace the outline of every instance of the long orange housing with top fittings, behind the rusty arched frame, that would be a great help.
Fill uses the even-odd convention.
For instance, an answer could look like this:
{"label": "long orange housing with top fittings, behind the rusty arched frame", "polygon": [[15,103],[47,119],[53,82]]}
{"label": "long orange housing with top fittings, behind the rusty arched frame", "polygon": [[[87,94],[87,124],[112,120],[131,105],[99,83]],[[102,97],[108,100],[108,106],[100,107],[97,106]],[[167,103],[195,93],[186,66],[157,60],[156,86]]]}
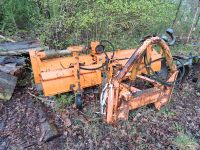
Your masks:
{"label": "long orange housing with top fittings, behind the rusty arched frame", "polygon": [[[100,42],[91,42],[90,54],[83,54],[83,46],[71,46],[61,51],[30,51],[35,83],[42,86],[45,96],[69,91],[81,92],[86,87],[101,85],[102,71],[108,76],[112,75],[111,66],[123,68],[135,51],[116,50],[114,58],[111,58],[113,52],[100,53],[99,47]],[[161,57],[155,50],[151,55],[153,60]],[[159,71],[160,66],[160,62],[156,62],[152,68]],[[144,62],[140,67],[144,67]],[[140,71],[145,72],[145,68]]]}

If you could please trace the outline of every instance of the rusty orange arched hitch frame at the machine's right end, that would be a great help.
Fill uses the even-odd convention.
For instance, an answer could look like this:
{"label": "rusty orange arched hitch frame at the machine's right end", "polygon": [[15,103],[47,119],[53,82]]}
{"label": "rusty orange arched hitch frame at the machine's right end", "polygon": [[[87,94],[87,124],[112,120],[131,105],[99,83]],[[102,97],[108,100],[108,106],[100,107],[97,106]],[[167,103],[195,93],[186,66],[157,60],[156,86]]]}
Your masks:
{"label": "rusty orange arched hitch frame at the machine's right end", "polygon": [[[140,70],[139,66],[144,58],[144,54],[146,54],[147,57],[146,61],[152,61],[151,52],[153,51],[153,45],[158,45],[161,48],[169,68],[167,80],[163,82],[156,81],[156,79],[151,79],[147,76],[148,73],[151,74],[154,72],[151,66],[146,66],[147,70],[148,67],[151,68],[150,71],[147,71],[147,74],[138,74],[138,71]],[[148,62],[146,63],[149,64]],[[129,73],[131,73],[129,75],[131,81],[140,79],[148,82],[152,86],[145,89],[144,87],[139,89],[127,84],[127,82],[123,82]],[[125,66],[113,76],[107,85],[107,91],[102,93],[103,95],[101,97],[105,97],[106,95],[104,100],[106,101],[106,106],[104,107],[105,110],[102,107],[102,112],[105,111],[106,114],[106,122],[113,123],[119,119],[127,120],[130,110],[151,103],[159,110],[161,106],[169,102],[177,75],[177,67],[173,62],[173,57],[168,45],[159,37],[147,39],[135,50]]]}

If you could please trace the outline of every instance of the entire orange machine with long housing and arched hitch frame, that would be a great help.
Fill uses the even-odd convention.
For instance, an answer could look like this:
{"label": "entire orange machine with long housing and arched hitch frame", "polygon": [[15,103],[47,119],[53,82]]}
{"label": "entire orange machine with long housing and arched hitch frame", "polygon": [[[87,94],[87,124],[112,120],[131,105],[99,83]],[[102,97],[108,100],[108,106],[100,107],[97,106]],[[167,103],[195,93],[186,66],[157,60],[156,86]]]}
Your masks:
{"label": "entire orange machine with long housing and arched hitch frame", "polygon": [[82,108],[85,88],[101,85],[105,121],[126,120],[132,109],[154,104],[159,110],[170,101],[179,71],[165,41],[146,37],[137,49],[127,50],[115,50],[106,40],[91,42],[89,48],[31,50],[34,80],[45,96],[74,91],[77,108]]}

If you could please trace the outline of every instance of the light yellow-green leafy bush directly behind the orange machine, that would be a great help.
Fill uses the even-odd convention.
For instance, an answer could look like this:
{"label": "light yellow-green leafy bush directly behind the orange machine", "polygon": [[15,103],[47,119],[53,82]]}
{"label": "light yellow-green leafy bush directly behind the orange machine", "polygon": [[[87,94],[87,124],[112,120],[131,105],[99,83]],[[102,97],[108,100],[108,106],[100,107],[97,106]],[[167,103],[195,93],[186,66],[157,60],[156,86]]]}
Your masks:
{"label": "light yellow-green leafy bush directly behind the orange machine", "polygon": [[49,15],[40,16],[37,33],[44,43],[59,49],[94,39],[118,42],[115,39],[130,40],[165,30],[172,22],[175,5],[170,0],[74,0],[46,2],[43,9]]}

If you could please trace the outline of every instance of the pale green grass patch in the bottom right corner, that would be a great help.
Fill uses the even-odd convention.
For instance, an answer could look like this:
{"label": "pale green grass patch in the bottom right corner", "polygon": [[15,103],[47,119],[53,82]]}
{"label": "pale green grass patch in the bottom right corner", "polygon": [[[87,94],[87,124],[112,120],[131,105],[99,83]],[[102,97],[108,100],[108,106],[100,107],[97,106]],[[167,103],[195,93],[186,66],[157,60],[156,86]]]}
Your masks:
{"label": "pale green grass patch in the bottom right corner", "polygon": [[173,144],[180,150],[197,150],[200,148],[199,144],[193,137],[184,133],[180,133],[174,139]]}

